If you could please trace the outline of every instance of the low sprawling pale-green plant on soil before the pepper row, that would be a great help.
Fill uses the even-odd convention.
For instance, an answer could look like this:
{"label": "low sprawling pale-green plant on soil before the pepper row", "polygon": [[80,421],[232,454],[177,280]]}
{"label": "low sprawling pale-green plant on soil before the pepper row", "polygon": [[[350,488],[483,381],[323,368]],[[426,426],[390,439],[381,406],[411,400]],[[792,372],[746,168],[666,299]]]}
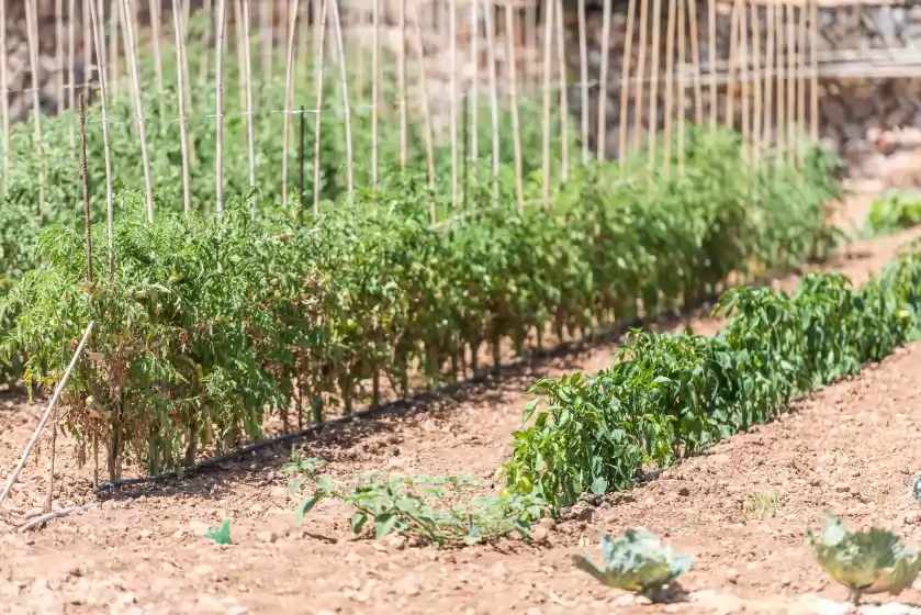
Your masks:
{"label": "low sprawling pale-green plant on soil before the pepper row", "polygon": [[289,473],[304,471],[290,483],[301,491],[304,482],[315,485],[313,493],[295,508],[299,524],[325,499],[345,502],[356,512],[349,524],[356,535],[373,525],[375,538],[396,533],[420,544],[438,547],[492,543],[512,533],[530,536],[530,522],[540,518],[543,507],[524,495],[471,496],[479,488],[475,477],[386,477],[366,472],[336,481],[316,476],[313,468],[295,459]]}

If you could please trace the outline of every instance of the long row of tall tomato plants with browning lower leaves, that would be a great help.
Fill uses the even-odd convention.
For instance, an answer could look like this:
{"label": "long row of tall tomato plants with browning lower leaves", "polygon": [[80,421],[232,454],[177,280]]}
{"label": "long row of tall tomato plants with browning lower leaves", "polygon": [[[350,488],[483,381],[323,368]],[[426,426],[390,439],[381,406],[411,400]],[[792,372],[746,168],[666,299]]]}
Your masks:
{"label": "long row of tall tomato plants with browning lower leaves", "polygon": [[154,225],[142,193],[122,189],[114,275],[104,223],[92,226],[92,283],[82,232],[47,230],[31,255],[38,267],[4,301],[15,324],[3,348],[27,358],[27,383],[49,384],[97,322],[66,417],[85,445],[108,445],[116,478],[122,462],[153,472],[227,436],[259,438],[267,413],[285,427],[329,406],[348,413],[375,403],[382,381],[407,394],[415,367],[437,387],[446,366],[452,378],[470,355],[476,369],[476,350],[504,339],[520,350],[546,325],[584,331],[671,311],[731,271],[832,247],[824,203],[836,188],[823,153],[799,172],[783,160],[752,168],[732,134],[701,130],[689,143],[681,176],[651,178],[642,161],[587,167],[553,187],[551,212],[519,212],[504,191],[494,208],[484,190],[476,215],[435,228],[429,192],[413,182],[340,199],[318,217],[245,194],[223,220],[186,219],[160,192]]}

